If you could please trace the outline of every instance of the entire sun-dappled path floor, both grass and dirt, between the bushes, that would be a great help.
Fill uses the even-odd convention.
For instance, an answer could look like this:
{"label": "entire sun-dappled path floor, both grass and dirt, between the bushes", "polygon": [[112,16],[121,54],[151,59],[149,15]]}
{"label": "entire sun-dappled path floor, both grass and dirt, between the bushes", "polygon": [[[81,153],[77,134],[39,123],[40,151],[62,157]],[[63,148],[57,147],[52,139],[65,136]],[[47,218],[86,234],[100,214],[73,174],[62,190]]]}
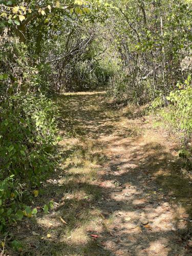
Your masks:
{"label": "entire sun-dappled path floor, both grass and dirt, between the bushes", "polygon": [[113,110],[103,92],[57,104],[61,162],[34,201],[54,209],[17,230],[23,254],[191,255],[192,182],[179,142],[142,108]]}

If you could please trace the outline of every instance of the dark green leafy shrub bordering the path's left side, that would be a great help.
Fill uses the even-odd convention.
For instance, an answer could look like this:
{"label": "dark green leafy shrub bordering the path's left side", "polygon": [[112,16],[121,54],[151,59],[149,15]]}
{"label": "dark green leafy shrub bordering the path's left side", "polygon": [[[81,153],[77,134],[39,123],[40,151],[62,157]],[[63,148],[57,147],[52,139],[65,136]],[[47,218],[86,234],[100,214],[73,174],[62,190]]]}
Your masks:
{"label": "dark green leafy shrub bordering the path's left side", "polygon": [[22,205],[22,199],[54,167],[56,115],[52,102],[34,93],[19,93],[1,103],[0,231],[7,222],[37,212]]}

